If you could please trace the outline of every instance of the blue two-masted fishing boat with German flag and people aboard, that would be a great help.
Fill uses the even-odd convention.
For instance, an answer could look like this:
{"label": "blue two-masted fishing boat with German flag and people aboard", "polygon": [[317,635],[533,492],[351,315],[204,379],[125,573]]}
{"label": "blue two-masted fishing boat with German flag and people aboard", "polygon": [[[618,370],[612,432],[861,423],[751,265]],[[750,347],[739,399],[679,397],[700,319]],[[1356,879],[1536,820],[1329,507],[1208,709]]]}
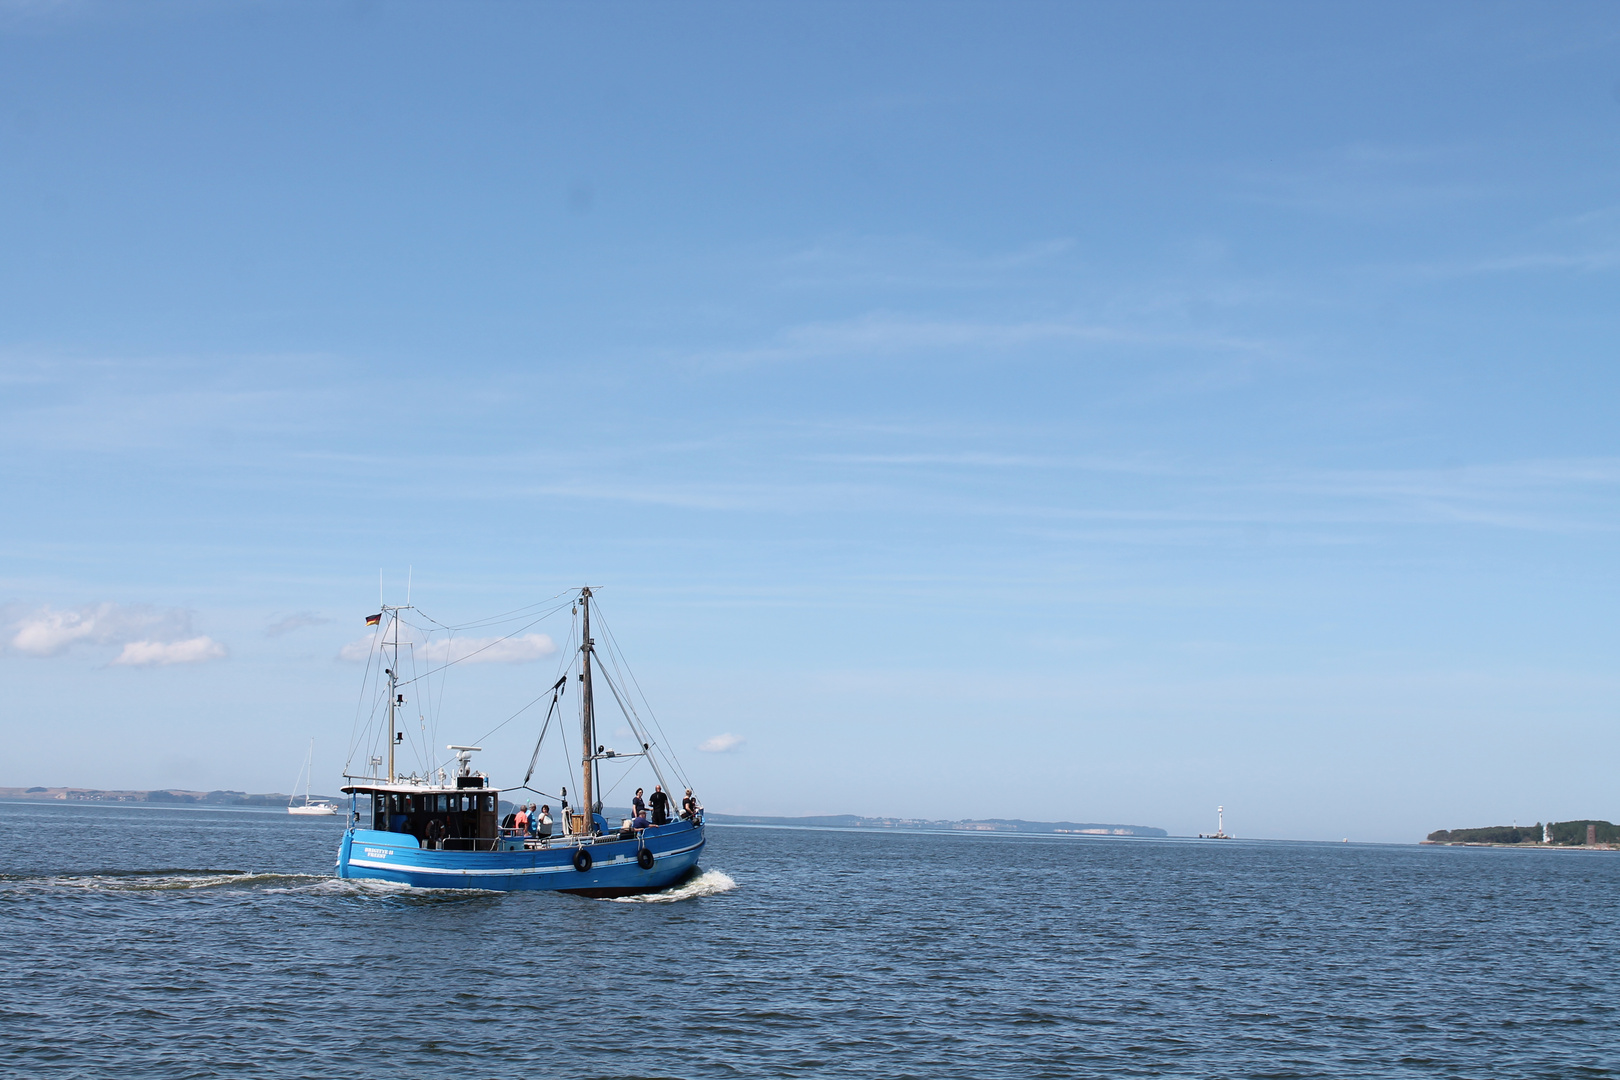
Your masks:
{"label": "blue two-masted fishing boat with German flag and people aboard", "polygon": [[[616,680],[606,665],[593,664],[598,644],[591,638],[591,589],[583,588],[561,604],[561,607],[572,606],[575,615],[583,615],[577,636],[578,746],[582,750],[577,790],[582,795],[580,808],[569,808],[567,787],[562,787],[561,793],[554,797],[530,787],[551,722],[559,716],[559,706],[570,682],[569,674],[564,674],[548,691],[551,706],[541,724],[528,774],[523,777],[523,784],[507,792],[523,790],[557,800],[557,819],[552,821],[548,814],[535,824],[523,823],[515,813],[502,816],[502,790],[491,784],[486,774],[475,771],[471,764],[471,756],[480,751],[480,746],[447,746],[455,755],[454,776],[449,776],[444,766],[403,777],[395,771],[395,751],[405,738],[399,729],[399,714],[405,706],[405,688],[411,683],[421,685],[424,678],[429,678],[436,670],[442,672],[457,659],[446,651],[442,667],[429,669],[423,675],[403,677],[400,672],[402,628],[407,628],[405,612],[415,609],[408,604],[405,607],[384,606],[379,615],[368,619],[369,625],[379,627],[377,638],[374,638],[376,651],[382,654],[384,662],[392,659],[389,667],[381,669],[382,678],[379,680],[379,690],[386,687],[387,693],[387,771],[382,772],[382,755],[369,758],[371,769],[377,776],[353,776],[345,771],[347,784],[342,790],[350,797],[350,819],[337,852],[339,878],[369,878],[426,889],[554,889],[588,897],[622,897],[658,892],[680,884],[697,873],[698,857],[703,852],[703,808],[687,787],[687,797],[679,806],[679,816],[676,816],[666,769],[680,777],[679,763],[648,733],[648,725],[643,724],[635,709],[632,687],[620,685],[625,682],[633,685],[633,677],[625,680],[620,669],[620,677]],[[512,636],[497,638],[481,648],[496,648]],[[570,644],[572,638],[570,633]],[[405,640],[403,644],[410,653],[413,641]],[[614,667],[619,667],[617,661],[619,657],[614,656]],[[368,682],[369,670],[368,667]],[[606,682],[612,691],[625,722],[637,735],[637,750],[624,753],[598,743],[593,695],[596,678]],[[544,699],[544,696],[541,695],[536,701]],[[648,714],[651,716],[650,711]],[[382,716],[384,711],[377,709],[379,737],[382,735]],[[612,826],[596,795],[604,790],[601,771],[604,766],[635,766],[638,763],[650,766],[658,780],[653,800],[650,800],[651,805],[646,814],[625,818],[620,824]],[[622,782],[625,776],[629,776],[627,771],[620,774],[619,780]]]}

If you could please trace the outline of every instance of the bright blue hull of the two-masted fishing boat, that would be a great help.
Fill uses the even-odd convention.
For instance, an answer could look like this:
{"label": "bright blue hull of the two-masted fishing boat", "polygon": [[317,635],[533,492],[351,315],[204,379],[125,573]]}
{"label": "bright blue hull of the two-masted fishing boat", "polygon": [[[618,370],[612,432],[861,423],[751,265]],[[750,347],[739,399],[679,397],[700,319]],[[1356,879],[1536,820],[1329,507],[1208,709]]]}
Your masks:
{"label": "bright blue hull of the two-masted fishing boat", "polygon": [[[436,852],[416,837],[376,829],[348,829],[337,850],[339,878],[395,881],[418,889],[551,889],[590,897],[658,892],[692,874],[703,852],[703,826],[677,821],[646,829],[640,839],[596,837],[585,844],[590,870],[575,866],[580,844],[536,850]],[[643,870],[640,848],[653,853]]]}

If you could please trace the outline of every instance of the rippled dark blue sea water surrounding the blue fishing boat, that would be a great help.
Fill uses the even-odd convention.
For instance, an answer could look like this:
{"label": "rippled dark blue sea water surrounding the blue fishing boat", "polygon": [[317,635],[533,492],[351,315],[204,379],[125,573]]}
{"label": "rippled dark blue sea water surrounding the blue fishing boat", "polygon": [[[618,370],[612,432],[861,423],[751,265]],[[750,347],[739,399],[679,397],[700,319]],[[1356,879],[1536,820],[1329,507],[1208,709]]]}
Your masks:
{"label": "rippled dark blue sea water surrounding the blue fishing boat", "polygon": [[1609,1077],[1620,853],[710,831],[638,902],[0,805],[0,1072]]}

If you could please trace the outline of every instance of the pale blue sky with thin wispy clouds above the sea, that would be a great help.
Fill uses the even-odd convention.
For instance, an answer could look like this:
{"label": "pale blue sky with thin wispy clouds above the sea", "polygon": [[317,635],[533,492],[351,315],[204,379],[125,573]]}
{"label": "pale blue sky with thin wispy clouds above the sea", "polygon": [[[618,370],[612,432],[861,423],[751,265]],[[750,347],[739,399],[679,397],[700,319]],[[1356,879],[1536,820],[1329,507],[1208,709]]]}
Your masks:
{"label": "pale blue sky with thin wispy clouds above the sea", "polygon": [[1617,819],[1617,285],[1604,3],[13,0],[0,785],[335,790],[381,576],[719,813]]}

